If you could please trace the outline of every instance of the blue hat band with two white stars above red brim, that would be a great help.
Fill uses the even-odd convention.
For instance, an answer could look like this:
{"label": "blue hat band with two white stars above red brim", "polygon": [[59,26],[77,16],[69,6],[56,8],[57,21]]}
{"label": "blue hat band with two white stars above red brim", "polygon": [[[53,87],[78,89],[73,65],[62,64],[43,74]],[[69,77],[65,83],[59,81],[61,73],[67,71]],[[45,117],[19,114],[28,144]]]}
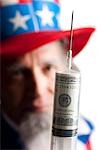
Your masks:
{"label": "blue hat band with two white stars above red brim", "polygon": [[34,1],[1,8],[1,38],[37,31],[60,30],[56,3]]}

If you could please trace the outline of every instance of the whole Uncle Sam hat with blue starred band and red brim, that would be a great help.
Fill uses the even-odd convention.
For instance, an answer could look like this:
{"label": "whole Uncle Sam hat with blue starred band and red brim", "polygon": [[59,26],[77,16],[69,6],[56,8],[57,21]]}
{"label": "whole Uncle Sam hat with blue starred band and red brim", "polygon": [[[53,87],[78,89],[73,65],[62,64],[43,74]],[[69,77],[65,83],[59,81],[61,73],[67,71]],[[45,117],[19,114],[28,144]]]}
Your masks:
{"label": "whole Uncle Sam hat with blue starred band and red brim", "polygon": [[[23,55],[51,41],[67,39],[60,29],[58,0],[1,0],[0,55]],[[73,30],[73,56],[86,45],[94,28]]]}

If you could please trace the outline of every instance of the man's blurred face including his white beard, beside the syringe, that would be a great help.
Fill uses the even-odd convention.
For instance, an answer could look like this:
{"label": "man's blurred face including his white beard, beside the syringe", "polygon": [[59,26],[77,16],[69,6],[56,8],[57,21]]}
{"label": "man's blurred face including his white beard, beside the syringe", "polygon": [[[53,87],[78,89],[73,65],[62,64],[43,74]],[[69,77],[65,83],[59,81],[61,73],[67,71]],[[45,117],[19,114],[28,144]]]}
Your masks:
{"label": "man's blurred face including his white beard, beside the syringe", "polygon": [[18,125],[30,150],[49,149],[55,72],[66,67],[63,51],[55,41],[16,59],[2,59],[2,111]]}

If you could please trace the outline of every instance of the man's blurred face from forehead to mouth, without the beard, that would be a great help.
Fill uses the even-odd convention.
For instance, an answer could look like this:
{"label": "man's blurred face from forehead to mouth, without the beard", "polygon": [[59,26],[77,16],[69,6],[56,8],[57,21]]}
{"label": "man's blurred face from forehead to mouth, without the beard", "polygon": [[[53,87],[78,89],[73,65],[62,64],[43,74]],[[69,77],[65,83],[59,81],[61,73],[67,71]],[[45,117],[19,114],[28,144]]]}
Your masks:
{"label": "man's blurred face from forehead to mouth, without the beard", "polygon": [[17,58],[3,68],[2,109],[15,123],[28,113],[50,112],[56,70],[64,68],[63,50],[52,42]]}

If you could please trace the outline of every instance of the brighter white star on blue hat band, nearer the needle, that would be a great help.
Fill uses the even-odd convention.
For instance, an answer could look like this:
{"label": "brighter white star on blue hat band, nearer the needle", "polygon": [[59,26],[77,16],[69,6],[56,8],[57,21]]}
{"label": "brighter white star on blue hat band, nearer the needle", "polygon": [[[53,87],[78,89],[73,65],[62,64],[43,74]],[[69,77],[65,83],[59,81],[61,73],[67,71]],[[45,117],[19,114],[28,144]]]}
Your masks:
{"label": "brighter white star on blue hat band, nearer the needle", "polygon": [[36,14],[41,17],[42,25],[50,25],[53,26],[53,17],[54,12],[50,11],[46,5],[43,5],[42,11],[37,11]]}

